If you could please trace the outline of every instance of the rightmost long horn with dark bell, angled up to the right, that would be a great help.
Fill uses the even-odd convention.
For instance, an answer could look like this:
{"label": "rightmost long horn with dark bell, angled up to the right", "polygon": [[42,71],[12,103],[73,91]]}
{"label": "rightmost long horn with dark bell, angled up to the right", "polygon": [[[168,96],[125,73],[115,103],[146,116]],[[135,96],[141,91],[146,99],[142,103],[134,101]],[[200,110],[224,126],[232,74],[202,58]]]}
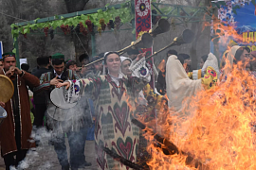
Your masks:
{"label": "rightmost long horn with dark bell, angled up to the right", "polygon": [[191,29],[185,29],[179,37],[174,38],[174,42],[170,43],[169,45],[163,47],[159,51],[155,52],[155,54],[147,57],[146,59],[150,59],[155,57],[158,53],[162,52],[163,50],[170,48],[174,45],[181,45],[183,43],[191,43],[194,39],[194,34]]}

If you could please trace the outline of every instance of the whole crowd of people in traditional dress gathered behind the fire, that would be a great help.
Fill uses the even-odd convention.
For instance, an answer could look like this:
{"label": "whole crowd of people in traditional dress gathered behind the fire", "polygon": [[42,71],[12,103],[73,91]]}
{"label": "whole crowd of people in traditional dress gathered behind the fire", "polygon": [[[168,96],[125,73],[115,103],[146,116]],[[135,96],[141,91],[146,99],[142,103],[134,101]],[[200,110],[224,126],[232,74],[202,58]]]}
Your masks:
{"label": "whole crowd of people in traditional dress gathered behind the fire", "polygon": [[[241,61],[244,69],[255,71],[255,52],[250,53],[248,48],[235,45],[227,55],[224,58],[231,59],[232,64]],[[30,134],[33,130],[40,135],[38,129],[44,127],[53,134],[50,144],[53,144],[63,170],[90,166],[91,163],[85,161],[84,146],[88,128],[92,124],[95,125],[96,161],[99,169],[127,169],[103,152],[102,147],[109,148],[128,161],[143,161],[140,164],[145,165],[146,159],[141,159],[141,150],[137,150],[142,140],[141,131],[132,123],[132,119],[138,112],[150,112],[153,101],[162,100],[157,101],[144,91],[151,81],[151,73],[155,73],[155,66],[148,68],[145,53],[130,50],[127,56],[106,52],[90,60],[83,54],[79,57],[82,67],[78,67],[75,60],[65,61],[64,55],[57,53],[37,58],[37,67],[29,73],[29,66],[26,64],[22,65],[22,69],[16,67],[15,54],[4,54],[0,60],[0,74],[8,76],[14,86],[9,102],[0,101],[0,106],[8,112],[8,117],[0,126],[1,155],[6,169],[17,167],[25,159],[29,148],[40,145],[40,141],[33,142]],[[175,111],[180,110],[184,97],[192,95],[192,91],[188,92],[188,89],[194,89],[190,88],[193,84],[197,88],[205,83],[210,88],[217,76],[229,75],[227,70],[221,70],[226,62],[221,62],[222,67],[219,68],[218,60],[211,53],[201,58],[200,70],[192,70],[190,56],[177,54],[175,50],[168,51],[165,60],[166,66],[155,73],[158,76],[152,92],[163,98],[167,94],[168,105]],[[94,63],[84,67],[90,61]],[[217,76],[208,75],[206,71],[209,66]],[[201,78],[210,80],[196,81]],[[184,82],[186,80],[186,83],[179,83],[177,88],[174,83],[180,79]],[[198,83],[188,83],[188,79]],[[63,86],[66,87],[66,102],[76,103],[73,108],[64,109],[51,100],[51,93]],[[182,89],[186,89],[186,92]],[[33,124],[30,119],[28,90],[33,92]],[[141,108],[143,110],[138,110]],[[149,121],[151,118],[155,119],[155,114],[150,113],[147,118]],[[70,147],[69,160],[65,135]]]}

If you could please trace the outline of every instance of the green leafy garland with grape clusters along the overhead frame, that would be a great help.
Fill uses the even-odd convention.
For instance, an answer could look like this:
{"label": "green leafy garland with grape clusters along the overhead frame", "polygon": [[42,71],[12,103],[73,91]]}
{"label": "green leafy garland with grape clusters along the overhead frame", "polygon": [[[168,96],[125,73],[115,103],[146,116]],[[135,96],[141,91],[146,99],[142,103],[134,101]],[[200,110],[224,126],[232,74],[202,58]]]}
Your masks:
{"label": "green leafy garland with grape clusters along the overhead frame", "polygon": [[[17,37],[19,34],[28,34],[30,33],[30,30],[36,30],[36,29],[42,29],[45,27],[52,27],[53,29],[56,29],[57,27],[60,27],[62,25],[66,26],[77,26],[78,24],[82,23],[84,27],[87,27],[85,25],[86,20],[90,20],[94,26],[101,26],[100,20],[103,19],[106,23],[109,20],[115,20],[115,17],[119,16],[121,19],[122,24],[129,23],[134,15],[131,13],[131,3],[126,2],[121,5],[121,8],[108,8],[109,4],[105,6],[106,10],[103,11],[102,9],[99,9],[97,13],[87,14],[87,15],[80,15],[73,18],[58,18],[58,16],[55,16],[56,20],[49,21],[46,23],[36,23],[38,19],[34,20],[35,24],[27,24],[27,26],[17,26],[15,24],[12,24],[11,27],[11,35],[14,39],[14,42],[17,40]],[[16,53],[16,49],[14,48],[12,50],[13,53]]]}

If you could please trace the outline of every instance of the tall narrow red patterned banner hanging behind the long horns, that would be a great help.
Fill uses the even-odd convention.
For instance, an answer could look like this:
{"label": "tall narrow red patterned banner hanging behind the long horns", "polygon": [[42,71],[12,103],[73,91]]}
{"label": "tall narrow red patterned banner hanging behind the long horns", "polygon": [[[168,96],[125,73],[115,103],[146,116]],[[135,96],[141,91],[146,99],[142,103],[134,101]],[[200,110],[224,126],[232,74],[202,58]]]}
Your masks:
{"label": "tall narrow red patterned banner hanging behind the long horns", "polygon": [[[136,38],[143,33],[148,32],[152,28],[151,0],[135,0],[135,16],[136,16]],[[151,56],[153,48],[141,49],[146,53],[146,57]],[[153,69],[154,59],[147,61],[148,69],[151,73],[150,86],[155,90],[155,76]]]}

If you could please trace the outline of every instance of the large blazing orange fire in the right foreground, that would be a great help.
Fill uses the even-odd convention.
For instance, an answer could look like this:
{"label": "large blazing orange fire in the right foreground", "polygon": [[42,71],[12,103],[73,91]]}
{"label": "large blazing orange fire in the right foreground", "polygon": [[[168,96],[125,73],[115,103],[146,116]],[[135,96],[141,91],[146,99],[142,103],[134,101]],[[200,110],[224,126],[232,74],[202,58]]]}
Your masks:
{"label": "large blazing orange fire in the right foreground", "polygon": [[[220,27],[223,37],[237,35],[229,26]],[[254,85],[255,79],[238,64],[226,81],[197,93],[182,112],[159,113],[162,143],[150,130],[145,133],[151,169],[255,170]],[[174,146],[178,151],[173,154]]]}

